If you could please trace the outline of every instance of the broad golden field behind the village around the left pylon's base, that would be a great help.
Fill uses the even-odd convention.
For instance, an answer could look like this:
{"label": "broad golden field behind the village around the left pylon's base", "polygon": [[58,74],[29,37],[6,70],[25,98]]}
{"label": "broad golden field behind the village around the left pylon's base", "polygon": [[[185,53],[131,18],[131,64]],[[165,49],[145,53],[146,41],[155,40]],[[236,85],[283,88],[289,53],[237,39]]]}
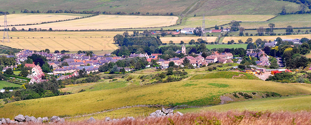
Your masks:
{"label": "broad golden field behind the village around the left pylon's base", "polygon": [[[1,42],[0,45],[25,48],[32,50],[98,50],[104,53],[114,51],[118,47],[113,44],[113,36],[118,31],[67,31],[67,32],[9,32],[10,43]],[[19,37],[19,38],[17,38]]]}

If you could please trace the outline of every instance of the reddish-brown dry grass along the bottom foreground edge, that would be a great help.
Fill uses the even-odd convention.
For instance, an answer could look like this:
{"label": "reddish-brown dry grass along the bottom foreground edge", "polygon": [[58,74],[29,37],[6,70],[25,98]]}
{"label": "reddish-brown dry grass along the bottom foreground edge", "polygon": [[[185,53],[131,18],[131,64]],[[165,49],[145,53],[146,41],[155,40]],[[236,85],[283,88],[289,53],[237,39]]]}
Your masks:
{"label": "reddish-brown dry grass along the bottom foreground edge", "polygon": [[[171,120],[169,120],[169,118]],[[270,112],[270,111],[226,111],[226,112],[198,112],[186,113],[184,116],[161,118],[137,118],[136,120],[122,120],[104,122],[96,121],[92,125],[310,125],[311,112]],[[87,121],[66,122],[66,125],[89,125]]]}

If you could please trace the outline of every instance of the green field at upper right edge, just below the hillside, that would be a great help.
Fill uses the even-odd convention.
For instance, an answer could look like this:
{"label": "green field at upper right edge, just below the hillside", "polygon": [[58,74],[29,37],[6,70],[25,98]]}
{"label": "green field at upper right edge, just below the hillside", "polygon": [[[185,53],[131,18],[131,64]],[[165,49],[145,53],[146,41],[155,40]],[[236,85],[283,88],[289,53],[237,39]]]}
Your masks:
{"label": "green field at upper right edge, just below the hillside", "polygon": [[248,28],[259,28],[264,27],[268,28],[269,23],[273,23],[276,25],[276,28],[286,28],[287,26],[293,27],[311,27],[311,15],[303,14],[303,15],[280,15],[276,16],[269,21],[264,22],[242,22],[241,27],[246,29]]}

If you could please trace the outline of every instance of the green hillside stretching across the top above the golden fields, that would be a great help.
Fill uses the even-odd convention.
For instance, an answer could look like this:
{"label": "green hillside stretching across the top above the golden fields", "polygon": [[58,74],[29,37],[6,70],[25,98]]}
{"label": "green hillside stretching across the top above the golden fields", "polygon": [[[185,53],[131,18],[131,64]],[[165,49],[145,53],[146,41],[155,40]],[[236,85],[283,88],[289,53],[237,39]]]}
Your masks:
{"label": "green hillside stretching across the top above the golden fields", "polygon": [[[14,5],[14,6],[11,6]],[[279,0],[1,0],[0,11],[75,10],[142,14],[196,15],[276,15],[285,6],[287,12],[299,11],[299,4]],[[269,8],[269,9],[267,9]]]}

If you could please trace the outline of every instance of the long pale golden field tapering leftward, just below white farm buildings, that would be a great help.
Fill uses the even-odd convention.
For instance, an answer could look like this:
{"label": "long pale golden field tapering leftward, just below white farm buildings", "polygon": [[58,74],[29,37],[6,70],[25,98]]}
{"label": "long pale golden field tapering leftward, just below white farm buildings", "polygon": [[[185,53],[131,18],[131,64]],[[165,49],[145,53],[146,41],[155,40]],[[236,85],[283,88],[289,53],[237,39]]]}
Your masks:
{"label": "long pale golden field tapering leftward, just below white farm buildings", "polygon": [[[174,25],[177,16],[113,16],[99,15],[69,21],[48,24],[14,26],[17,29],[41,28],[53,30],[95,30],[95,29],[121,29],[121,28],[147,28]],[[9,27],[10,29],[12,27]]]}

